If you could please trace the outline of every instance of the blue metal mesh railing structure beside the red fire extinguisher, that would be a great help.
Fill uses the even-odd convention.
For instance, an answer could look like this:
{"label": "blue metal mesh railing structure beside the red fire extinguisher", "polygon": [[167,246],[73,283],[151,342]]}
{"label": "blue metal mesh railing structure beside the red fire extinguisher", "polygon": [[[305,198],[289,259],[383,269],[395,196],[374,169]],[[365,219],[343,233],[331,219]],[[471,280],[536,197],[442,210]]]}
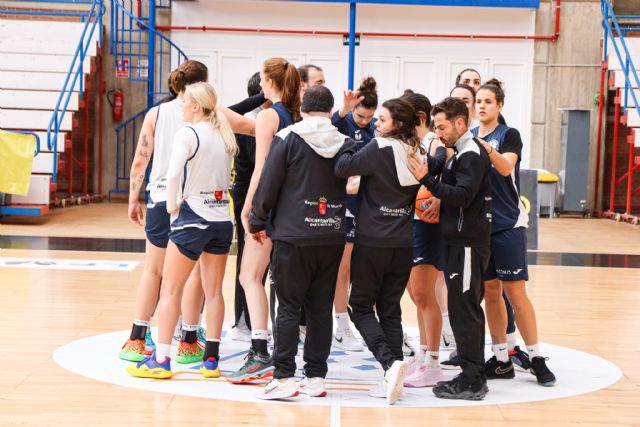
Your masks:
{"label": "blue metal mesh railing structure beside the red fire extinguisher", "polygon": [[[147,107],[116,128],[116,173],[113,193],[129,191],[129,169],[137,146],[138,132],[147,111],[169,96],[167,76],[187,55],[165,35],[155,30],[155,7],[167,0],[148,4],[148,17],[136,17],[134,0],[111,0],[110,52],[117,61],[129,62],[129,80],[147,83]],[[124,184],[124,185],[123,185]]]}

